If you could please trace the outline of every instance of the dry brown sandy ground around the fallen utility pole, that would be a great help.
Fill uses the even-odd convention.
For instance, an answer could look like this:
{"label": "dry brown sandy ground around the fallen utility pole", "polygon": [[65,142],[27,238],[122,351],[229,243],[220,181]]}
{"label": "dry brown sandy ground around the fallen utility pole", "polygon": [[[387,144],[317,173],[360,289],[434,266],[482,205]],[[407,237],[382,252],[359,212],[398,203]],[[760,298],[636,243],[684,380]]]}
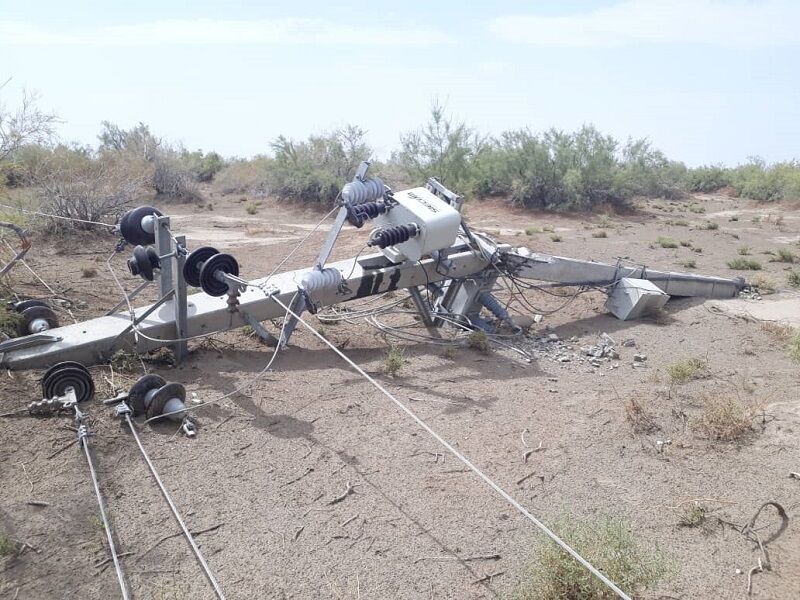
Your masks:
{"label": "dry brown sandy ground around the fallen utility pole", "polygon": [[[320,217],[266,201],[249,215],[235,196],[209,201],[211,211],[170,206],[175,229],[192,245],[234,253],[246,277],[271,270]],[[786,287],[789,265],[762,253],[800,239],[799,212],[721,196],[699,197],[694,206],[705,213],[687,202],[646,201],[628,216],[567,217],[486,202],[470,204],[467,215],[499,239],[542,252],[631,257],[674,270],[694,260],[699,273],[762,275]],[[718,229],[700,228],[707,221]],[[607,237],[592,237],[600,226]],[[528,227],[552,227],[561,241],[548,232],[525,235]],[[324,236],[324,228],[312,235],[286,267],[309,264]],[[365,236],[348,230],[335,257],[355,254]],[[659,236],[687,245],[661,248]],[[113,243],[97,235],[40,239],[29,264],[70,300],[76,318],[88,318],[118,300],[105,267]],[[763,271],[728,269],[744,245]],[[121,257],[114,264],[124,272]],[[97,274],[85,277],[89,268]],[[136,284],[125,281],[129,289]],[[22,296],[47,295],[24,268],[10,284]],[[562,302],[540,293],[529,299],[544,309]],[[797,314],[797,293],[787,291],[730,303],[673,301],[657,318],[621,322],[604,312],[601,295],[589,293],[530,332],[531,363],[500,348],[445,355],[432,344],[401,343],[407,363],[396,377],[383,372],[387,341],[375,329],[363,322],[324,329],[545,522],[565,513],[624,517],[673,566],[641,597],[745,598],[759,553],[722,522],[743,525],[763,502],[779,502],[790,524],[768,545],[772,571],[754,575],[752,597],[783,599],[800,597],[800,480],[789,477],[800,471],[800,369],[773,321],[796,324]],[[60,317],[70,319],[65,310]],[[619,360],[595,367],[576,358],[603,332],[617,340]],[[562,340],[558,351],[536,342],[549,333]],[[635,346],[622,346],[625,339]],[[636,363],[634,354],[647,359]],[[148,369],[210,400],[252,377],[270,355],[236,331],[194,344],[181,366]],[[561,362],[564,355],[573,358]],[[702,376],[671,383],[667,367],[694,357],[707,360]],[[93,368],[98,398],[110,393],[110,382],[129,386],[142,373],[137,368]],[[39,376],[3,374],[0,412],[37,398]],[[708,439],[693,426],[704,401],[731,397],[755,407],[752,432],[734,442]],[[637,433],[627,419],[631,399],[650,412],[649,432]],[[178,528],[130,433],[97,400],[90,412],[91,444],[133,597],[212,598],[185,540],[168,537]],[[548,543],[306,331],[249,393],[196,414],[196,439],[177,435],[173,425],[144,426],[141,434],[190,529],[204,532],[197,540],[228,598],[505,597]],[[118,596],[114,570],[103,562],[86,462],[75,446],[56,454],[75,437],[70,425],[67,417],[0,420],[0,532],[26,544],[21,554],[0,558],[0,597]],[[333,502],[348,486],[353,492]],[[680,527],[694,503],[707,510],[706,523]],[[759,526],[764,537],[775,531],[774,513],[765,512]]]}

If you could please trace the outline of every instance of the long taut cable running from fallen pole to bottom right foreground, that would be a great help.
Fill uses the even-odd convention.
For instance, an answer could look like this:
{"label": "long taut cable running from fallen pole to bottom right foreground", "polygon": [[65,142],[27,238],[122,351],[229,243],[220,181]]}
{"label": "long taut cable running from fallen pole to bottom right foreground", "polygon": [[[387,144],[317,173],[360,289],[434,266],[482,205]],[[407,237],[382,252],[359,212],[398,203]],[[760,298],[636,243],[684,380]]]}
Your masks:
{"label": "long taut cable running from fallen pole to bottom right foreground", "polygon": [[389,400],[391,400],[400,410],[402,410],[409,417],[411,417],[417,423],[417,425],[419,425],[420,427],[422,427],[422,429],[424,429],[427,433],[429,433],[437,442],[439,442],[442,446],[444,446],[453,456],[455,456],[458,460],[464,463],[464,465],[468,469],[470,469],[473,473],[475,473],[478,477],[480,477],[486,485],[488,485],[495,492],[497,492],[504,500],[506,500],[509,504],[511,504],[511,506],[517,509],[517,511],[519,511],[525,518],[531,521],[545,535],[547,535],[551,540],[553,540],[556,544],[558,544],[565,552],[567,552],[570,556],[572,556],[572,558],[574,558],[582,566],[584,566],[590,573],[592,573],[592,575],[597,577],[597,579],[599,579],[603,584],[605,584],[619,598],[622,598],[623,600],[631,600],[630,596],[628,596],[625,592],[623,592],[613,581],[611,581],[608,577],[603,575],[603,573],[601,573],[589,561],[587,561],[580,554],[578,554],[577,551],[575,551],[564,540],[558,537],[544,523],[542,523],[539,519],[533,516],[533,514],[531,514],[524,506],[522,506],[517,500],[515,500],[514,497],[511,496],[511,494],[506,492],[503,488],[500,487],[500,485],[495,483],[488,475],[486,475],[477,466],[475,466],[466,456],[464,456],[461,452],[456,450],[447,440],[445,440],[442,436],[436,433],[436,431],[434,431],[427,423],[425,423],[425,421],[423,421],[420,417],[418,417],[416,413],[414,413],[405,404],[403,404],[400,400],[398,400],[391,392],[389,392],[380,383],[378,383],[375,379],[373,379],[366,371],[364,371],[361,367],[359,367],[356,363],[354,363],[346,354],[344,354],[334,344],[325,339],[319,332],[317,332],[316,329],[314,329],[311,325],[306,323],[299,315],[294,313],[287,305],[281,302],[275,295],[271,296],[271,298],[276,304],[286,309],[286,312],[288,314],[296,318],[297,321],[301,323],[306,329],[308,329],[314,336],[316,336],[326,346],[328,346],[331,350],[333,350],[336,354],[338,354],[339,357],[342,360],[344,360],[348,365],[350,365],[359,375],[364,377],[364,379],[366,379],[375,388],[377,388],[378,391],[380,391],[384,396],[386,396]]}

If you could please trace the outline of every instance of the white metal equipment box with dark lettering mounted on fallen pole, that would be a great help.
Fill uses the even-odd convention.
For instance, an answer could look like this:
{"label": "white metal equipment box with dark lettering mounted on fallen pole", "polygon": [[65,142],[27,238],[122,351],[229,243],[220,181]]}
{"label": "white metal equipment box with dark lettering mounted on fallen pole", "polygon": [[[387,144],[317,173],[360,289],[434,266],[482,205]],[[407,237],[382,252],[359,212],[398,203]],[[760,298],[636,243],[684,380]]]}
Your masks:
{"label": "white metal equipment box with dark lettering mounted on fallen pole", "polygon": [[414,224],[417,233],[398,244],[381,248],[392,262],[417,261],[433,250],[448,248],[458,237],[461,213],[424,187],[396,192],[397,201],[373,222],[387,230]]}

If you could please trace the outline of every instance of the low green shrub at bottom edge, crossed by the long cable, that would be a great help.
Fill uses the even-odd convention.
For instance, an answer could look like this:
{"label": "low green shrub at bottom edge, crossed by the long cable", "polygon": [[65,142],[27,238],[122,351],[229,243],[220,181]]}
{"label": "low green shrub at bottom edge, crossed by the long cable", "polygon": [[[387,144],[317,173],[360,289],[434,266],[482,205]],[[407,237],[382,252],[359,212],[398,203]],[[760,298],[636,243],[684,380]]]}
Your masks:
{"label": "low green shrub at bottom edge, crossed by the long cable", "polygon": [[[631,595],[670,573],[667,559],[641,544],[621,519],[599,516],[592,521],[564,517],[553,529],[581,556]],[[586,567],[551,542],[535,557],[512,592],[514,600],[605,600],[612,592]]]}

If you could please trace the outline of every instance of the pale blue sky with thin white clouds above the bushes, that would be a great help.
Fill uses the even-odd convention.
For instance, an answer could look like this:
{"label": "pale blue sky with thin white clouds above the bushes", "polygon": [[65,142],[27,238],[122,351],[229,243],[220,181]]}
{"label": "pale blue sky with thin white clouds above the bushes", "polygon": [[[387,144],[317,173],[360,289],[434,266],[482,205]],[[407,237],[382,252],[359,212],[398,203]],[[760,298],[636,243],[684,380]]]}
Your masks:
{"label": "pale blue sky with thin white clouds above the bushes", "polygon": [[800,159],[799,24],[800,0],[0,0],[0,98],[39,92],[65,140],[142,121],[226,156],[346,123],[386,156],[438,98],[484,133]]}

